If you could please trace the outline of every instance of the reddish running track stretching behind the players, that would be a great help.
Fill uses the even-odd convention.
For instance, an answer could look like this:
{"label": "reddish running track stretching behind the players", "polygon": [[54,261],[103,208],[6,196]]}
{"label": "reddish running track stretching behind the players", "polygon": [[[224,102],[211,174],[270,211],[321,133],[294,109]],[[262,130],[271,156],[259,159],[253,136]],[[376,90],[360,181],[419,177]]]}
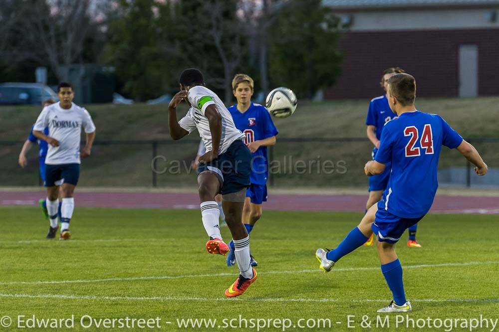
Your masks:
{"label": "reddish running track stretching behind the players", "polygon": [[[0,206],[36,205],[44,191],[0,191]],[[346,194],[271,194],[264,203],[267,210],[355,211],[364,210],[366,195]],[[196,193],[170,192],[76,192],[76,205],[115,208],[190,208],[199,209]],[[499,214],[499,197],[437,196],[435,213]]]}

